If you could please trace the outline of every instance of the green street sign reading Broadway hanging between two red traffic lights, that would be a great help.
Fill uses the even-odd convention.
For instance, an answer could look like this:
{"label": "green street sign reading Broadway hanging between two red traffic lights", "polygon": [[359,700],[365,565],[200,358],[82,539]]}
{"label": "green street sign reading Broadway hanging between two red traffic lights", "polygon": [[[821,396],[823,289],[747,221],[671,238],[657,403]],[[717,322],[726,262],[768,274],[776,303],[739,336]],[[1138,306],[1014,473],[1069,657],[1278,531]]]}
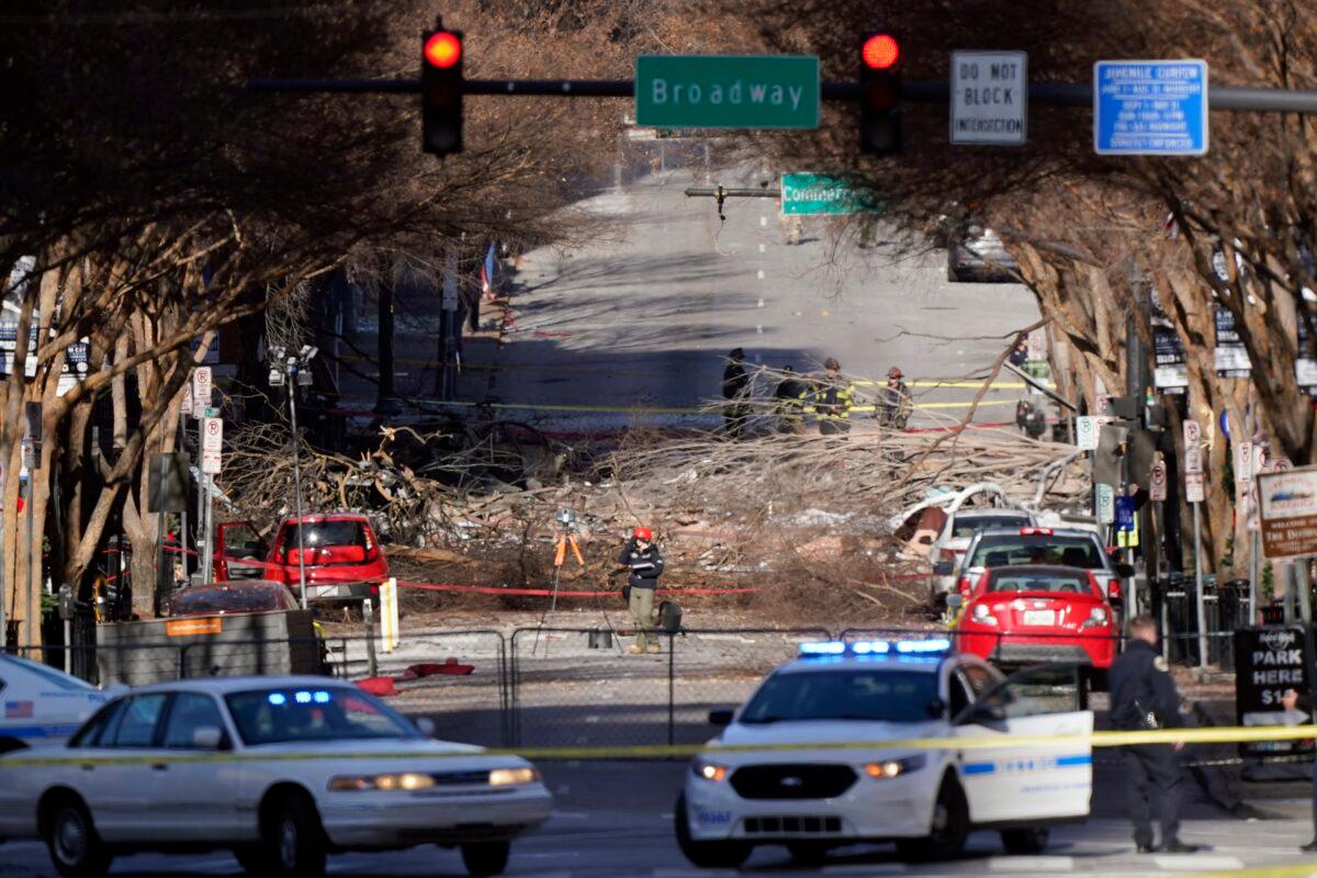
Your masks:
{"label": "green street sign reading Broadway hanging between two red traffic lights", "polygon": [[641,128],[818,128],[813,55],[639,55]]}

